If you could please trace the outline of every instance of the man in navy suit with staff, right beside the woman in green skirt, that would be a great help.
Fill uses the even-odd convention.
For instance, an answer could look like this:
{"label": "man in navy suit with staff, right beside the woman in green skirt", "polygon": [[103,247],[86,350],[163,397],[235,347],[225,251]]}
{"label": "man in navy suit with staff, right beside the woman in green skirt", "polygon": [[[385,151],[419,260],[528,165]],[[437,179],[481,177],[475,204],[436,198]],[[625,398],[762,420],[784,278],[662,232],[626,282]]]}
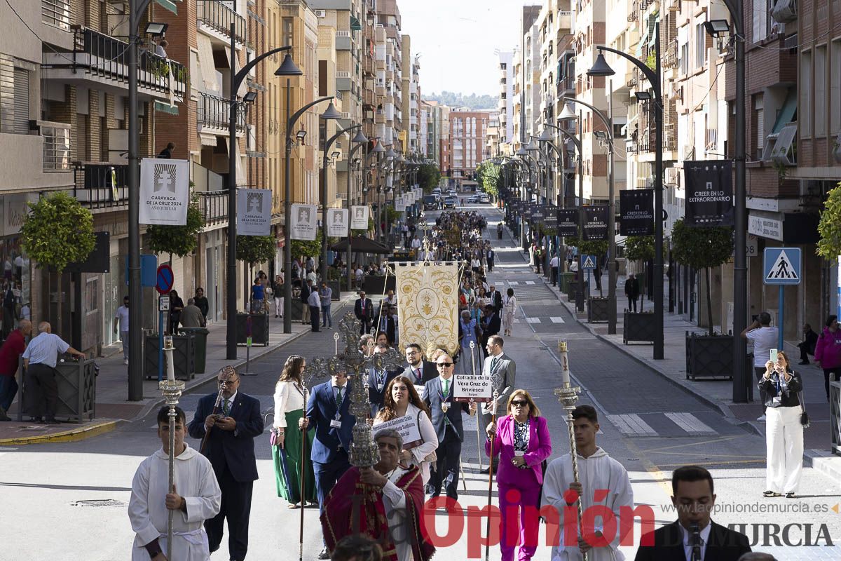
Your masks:
{"label": "man in navy suit with staff, right beside the woman in green skirt", "polygon": [[[322,514],[330,490],[351,467],[348,453],[351,449],[352,428],[357,418],[350,412],[350,391],[351,384],[347,381],[346,373],[333,374],[329,382],[313,388],[309,394],[306,416],[299,421],[300,428],[315,430],[309,458],[313,462],[315,495]],[[318,558],[330,558],[326,546]]]}

